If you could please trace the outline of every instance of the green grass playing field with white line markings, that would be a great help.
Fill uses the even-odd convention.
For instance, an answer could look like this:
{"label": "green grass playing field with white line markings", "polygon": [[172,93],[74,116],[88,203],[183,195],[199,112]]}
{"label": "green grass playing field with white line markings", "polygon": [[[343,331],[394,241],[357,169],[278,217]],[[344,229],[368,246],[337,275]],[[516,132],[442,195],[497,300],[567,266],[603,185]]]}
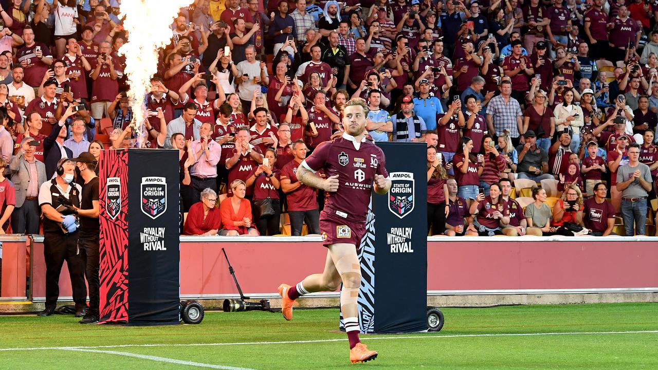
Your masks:
{"label": "green grass playing field with white line markings", "polygon": [[658,304],[443,313],[439,333],[361,336],[379,357],[359,365],[348,361],[338,309],[298,309],[291,322],[209,312],[201,325],[170,327],[0,316],[0,369],[658,369]]}

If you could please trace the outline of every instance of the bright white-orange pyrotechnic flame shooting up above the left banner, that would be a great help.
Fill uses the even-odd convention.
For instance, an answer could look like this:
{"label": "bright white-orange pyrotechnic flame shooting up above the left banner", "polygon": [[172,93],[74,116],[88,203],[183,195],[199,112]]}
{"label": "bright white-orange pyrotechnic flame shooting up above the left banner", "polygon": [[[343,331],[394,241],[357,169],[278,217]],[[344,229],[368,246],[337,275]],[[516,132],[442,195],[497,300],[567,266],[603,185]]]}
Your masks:
{"label": "bright white-orange pyrotechnic flame shooting up above the left banner", "polygon": [[126,56],[128,99],[133,111],[133,130],[138,133],[139,147],[143,146],[143,126],[146,119],[145,96],[151,77],[157,72],[158,49],[172,38],[171,24],[180,8],[193,0],[127,0],[122,1],[119,18],[124,18],[128,42],[119,49]]}

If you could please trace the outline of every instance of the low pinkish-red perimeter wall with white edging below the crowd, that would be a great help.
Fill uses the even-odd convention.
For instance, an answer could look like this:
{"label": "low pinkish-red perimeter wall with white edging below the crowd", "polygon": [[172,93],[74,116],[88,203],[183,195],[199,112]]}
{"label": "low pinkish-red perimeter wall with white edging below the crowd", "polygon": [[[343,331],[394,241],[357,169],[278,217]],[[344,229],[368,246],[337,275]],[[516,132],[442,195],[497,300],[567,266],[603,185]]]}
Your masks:
{"label": "low pinkish-red perimeter wall with white edging below the crowd", "polygon": [[[281,282],[292,284],[322,271],[327,252],[320,241],[319,236],[181,236],[180,296],[238,297],[224,248],[247,296],[276,298]],[[2,300],[43,302],[43,236],[6,235],[0,242]],[[28,247],[30,291],[24,284]],[[658,292],[656,237],[430,236],[427,250],[428,296]],[[60,299],[70,296],[64,263]],[[313,296],[338,297],[338,292]]]}

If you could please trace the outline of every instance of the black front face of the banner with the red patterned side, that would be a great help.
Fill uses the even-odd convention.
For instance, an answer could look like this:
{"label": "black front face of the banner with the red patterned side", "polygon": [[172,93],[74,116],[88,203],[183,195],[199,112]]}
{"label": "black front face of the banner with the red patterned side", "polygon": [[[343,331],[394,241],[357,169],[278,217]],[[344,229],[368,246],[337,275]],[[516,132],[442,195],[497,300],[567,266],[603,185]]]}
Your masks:
{"label": "black front face of the banner with the red patterned side", "polygon": [[128,151],[128,325],[180,323],[177,164],[174,150]]}

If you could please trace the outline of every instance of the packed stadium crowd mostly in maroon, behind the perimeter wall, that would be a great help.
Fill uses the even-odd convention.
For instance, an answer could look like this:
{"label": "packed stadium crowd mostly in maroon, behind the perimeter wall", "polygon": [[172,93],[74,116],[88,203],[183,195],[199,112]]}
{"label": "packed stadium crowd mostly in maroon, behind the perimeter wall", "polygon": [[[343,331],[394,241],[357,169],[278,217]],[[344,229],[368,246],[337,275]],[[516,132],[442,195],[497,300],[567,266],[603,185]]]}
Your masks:
{"label": "packed stadium crowd mostly in maroon, behind the perimeter wall", "polygon": [[656,232],[658,1],[195,0],[143,126],[119,1],[0,5],[3,232],[39,233],[61,159],[164,147],[182,234],[318,234],[295,174],[354,98],[368,140],[427,144],[432,235]]}

